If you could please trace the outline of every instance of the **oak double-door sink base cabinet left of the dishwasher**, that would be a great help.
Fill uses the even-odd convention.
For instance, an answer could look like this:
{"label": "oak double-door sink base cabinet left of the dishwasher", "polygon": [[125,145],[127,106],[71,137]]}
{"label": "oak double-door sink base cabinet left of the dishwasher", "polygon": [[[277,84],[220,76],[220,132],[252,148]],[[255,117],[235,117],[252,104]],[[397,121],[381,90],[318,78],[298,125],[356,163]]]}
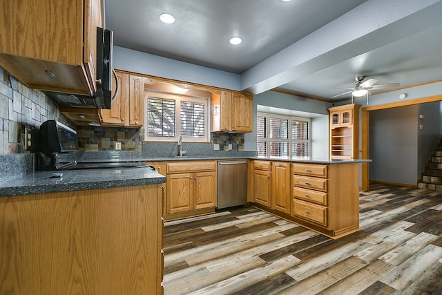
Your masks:
{"label": "oak double-door sink base cabinet left of the dishwasher", "polygon": [[216,161],[166,163],[166,220],[215,211],[216,164]]}

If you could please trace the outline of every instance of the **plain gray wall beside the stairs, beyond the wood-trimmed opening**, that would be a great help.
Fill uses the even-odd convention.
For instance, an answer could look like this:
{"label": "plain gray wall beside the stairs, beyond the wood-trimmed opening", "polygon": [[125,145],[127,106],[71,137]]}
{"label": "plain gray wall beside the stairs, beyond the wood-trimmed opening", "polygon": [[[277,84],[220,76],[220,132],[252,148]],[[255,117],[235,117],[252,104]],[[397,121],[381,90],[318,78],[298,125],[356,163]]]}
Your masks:
{"label": "plain gray wall beside the stairs, beyond the wood-trimmed opening", "polygon": [[416,185],[439,140],[440,104],[370,111],[370,180]]}

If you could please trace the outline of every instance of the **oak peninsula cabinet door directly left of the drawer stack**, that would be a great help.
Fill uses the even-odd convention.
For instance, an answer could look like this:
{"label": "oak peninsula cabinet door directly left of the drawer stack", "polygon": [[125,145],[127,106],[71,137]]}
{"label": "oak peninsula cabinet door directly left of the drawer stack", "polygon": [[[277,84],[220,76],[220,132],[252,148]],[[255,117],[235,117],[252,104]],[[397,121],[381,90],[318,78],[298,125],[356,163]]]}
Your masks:
{"label": "oak peninsula cabinet door directly left of the drawer stack", "polygon": [[290,214],[291,211],[291,185],[289,163],[273,162],[273,175],[271,177],[271,208]]}

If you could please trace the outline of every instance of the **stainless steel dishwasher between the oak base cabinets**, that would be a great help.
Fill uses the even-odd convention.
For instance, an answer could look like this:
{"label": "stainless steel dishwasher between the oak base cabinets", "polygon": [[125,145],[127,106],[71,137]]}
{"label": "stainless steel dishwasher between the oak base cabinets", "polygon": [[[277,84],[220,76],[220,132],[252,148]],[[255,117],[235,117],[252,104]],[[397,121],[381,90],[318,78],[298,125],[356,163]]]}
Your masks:
{"label": "stainless steel dishwasher between the oak base cabinets", "polygon": [[218,209],[247,203],[247,160],[218,161]]}

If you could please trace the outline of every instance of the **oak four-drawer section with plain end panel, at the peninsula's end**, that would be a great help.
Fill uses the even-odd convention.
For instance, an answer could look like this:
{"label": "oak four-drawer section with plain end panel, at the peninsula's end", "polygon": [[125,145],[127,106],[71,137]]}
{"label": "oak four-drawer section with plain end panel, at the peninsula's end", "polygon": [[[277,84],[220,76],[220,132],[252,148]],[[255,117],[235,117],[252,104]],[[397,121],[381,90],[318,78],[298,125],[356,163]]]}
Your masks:
{"label": "oak four-drawer section with plain end panel, at the peninsula's end", "polygon": [[291,165],[296,222],[330,238],[359,230],[357,163]]}

